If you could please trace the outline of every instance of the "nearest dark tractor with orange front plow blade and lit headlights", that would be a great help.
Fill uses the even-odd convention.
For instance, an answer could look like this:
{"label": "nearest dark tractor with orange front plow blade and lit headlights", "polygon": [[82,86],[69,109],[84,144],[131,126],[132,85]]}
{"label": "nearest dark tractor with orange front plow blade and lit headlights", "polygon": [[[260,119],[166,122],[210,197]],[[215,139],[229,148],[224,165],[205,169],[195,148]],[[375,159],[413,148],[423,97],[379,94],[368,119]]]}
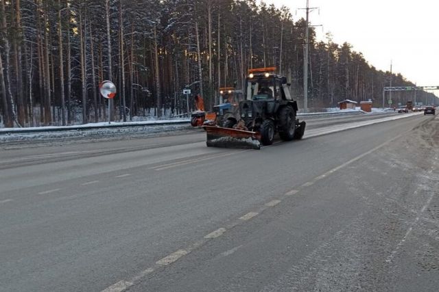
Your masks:
{"label": "nearest dark tractor with orange front plow blade and lit headlights", "polygon": [[275,71],[274,67],[249,70],[246,100],[239,102],[237,115],[224,120],[222,127],[203,126],[207,146],[260,149],[271,145],[276,133],[284,141],[303,137],[306,124],[296,118],[298,107],[287,79]]}

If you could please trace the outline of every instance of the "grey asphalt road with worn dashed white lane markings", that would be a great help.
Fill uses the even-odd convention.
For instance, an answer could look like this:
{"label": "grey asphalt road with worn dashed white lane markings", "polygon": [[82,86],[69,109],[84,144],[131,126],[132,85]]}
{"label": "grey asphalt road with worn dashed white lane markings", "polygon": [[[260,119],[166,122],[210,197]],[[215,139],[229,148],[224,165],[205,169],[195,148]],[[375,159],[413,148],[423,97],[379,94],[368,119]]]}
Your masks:
{"label": "grey asphalt road with worn dashed white lane markings", "polygon": [[0,291],[436,291],[439,121],[310,128],[0,150]]}

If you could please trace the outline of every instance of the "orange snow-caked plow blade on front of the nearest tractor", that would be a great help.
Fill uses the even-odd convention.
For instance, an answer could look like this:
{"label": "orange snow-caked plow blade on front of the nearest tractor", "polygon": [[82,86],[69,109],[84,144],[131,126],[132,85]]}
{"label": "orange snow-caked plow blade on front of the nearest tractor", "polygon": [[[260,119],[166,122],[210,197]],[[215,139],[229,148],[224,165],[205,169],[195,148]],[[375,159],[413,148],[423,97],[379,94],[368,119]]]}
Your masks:
{"label": "orange snow-caked plow blade on front of the nearest tractor", "polygon": [[261,149],[261,135],[257,132],[215,126],[203,128],[206,130],[206,145],[209,147]]}

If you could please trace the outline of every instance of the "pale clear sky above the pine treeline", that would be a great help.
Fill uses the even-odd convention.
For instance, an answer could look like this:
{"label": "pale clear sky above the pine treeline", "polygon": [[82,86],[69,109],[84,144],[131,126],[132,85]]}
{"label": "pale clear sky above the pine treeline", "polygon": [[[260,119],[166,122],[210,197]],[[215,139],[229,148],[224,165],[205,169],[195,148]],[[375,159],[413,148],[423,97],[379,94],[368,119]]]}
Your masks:
{"label": "pale clear sky above the pine treeline", "polygon": [[[265,0],[290,8],[294,20],[305,18],[306,0]],[[348,42],[379,70],[400,72],[418,86],[439,86],[438,0],[309,0],[311,25],[319,38]],[[296,14],[297,11],[297,14]],[[394,84],[397,85],[397,84]]]}

